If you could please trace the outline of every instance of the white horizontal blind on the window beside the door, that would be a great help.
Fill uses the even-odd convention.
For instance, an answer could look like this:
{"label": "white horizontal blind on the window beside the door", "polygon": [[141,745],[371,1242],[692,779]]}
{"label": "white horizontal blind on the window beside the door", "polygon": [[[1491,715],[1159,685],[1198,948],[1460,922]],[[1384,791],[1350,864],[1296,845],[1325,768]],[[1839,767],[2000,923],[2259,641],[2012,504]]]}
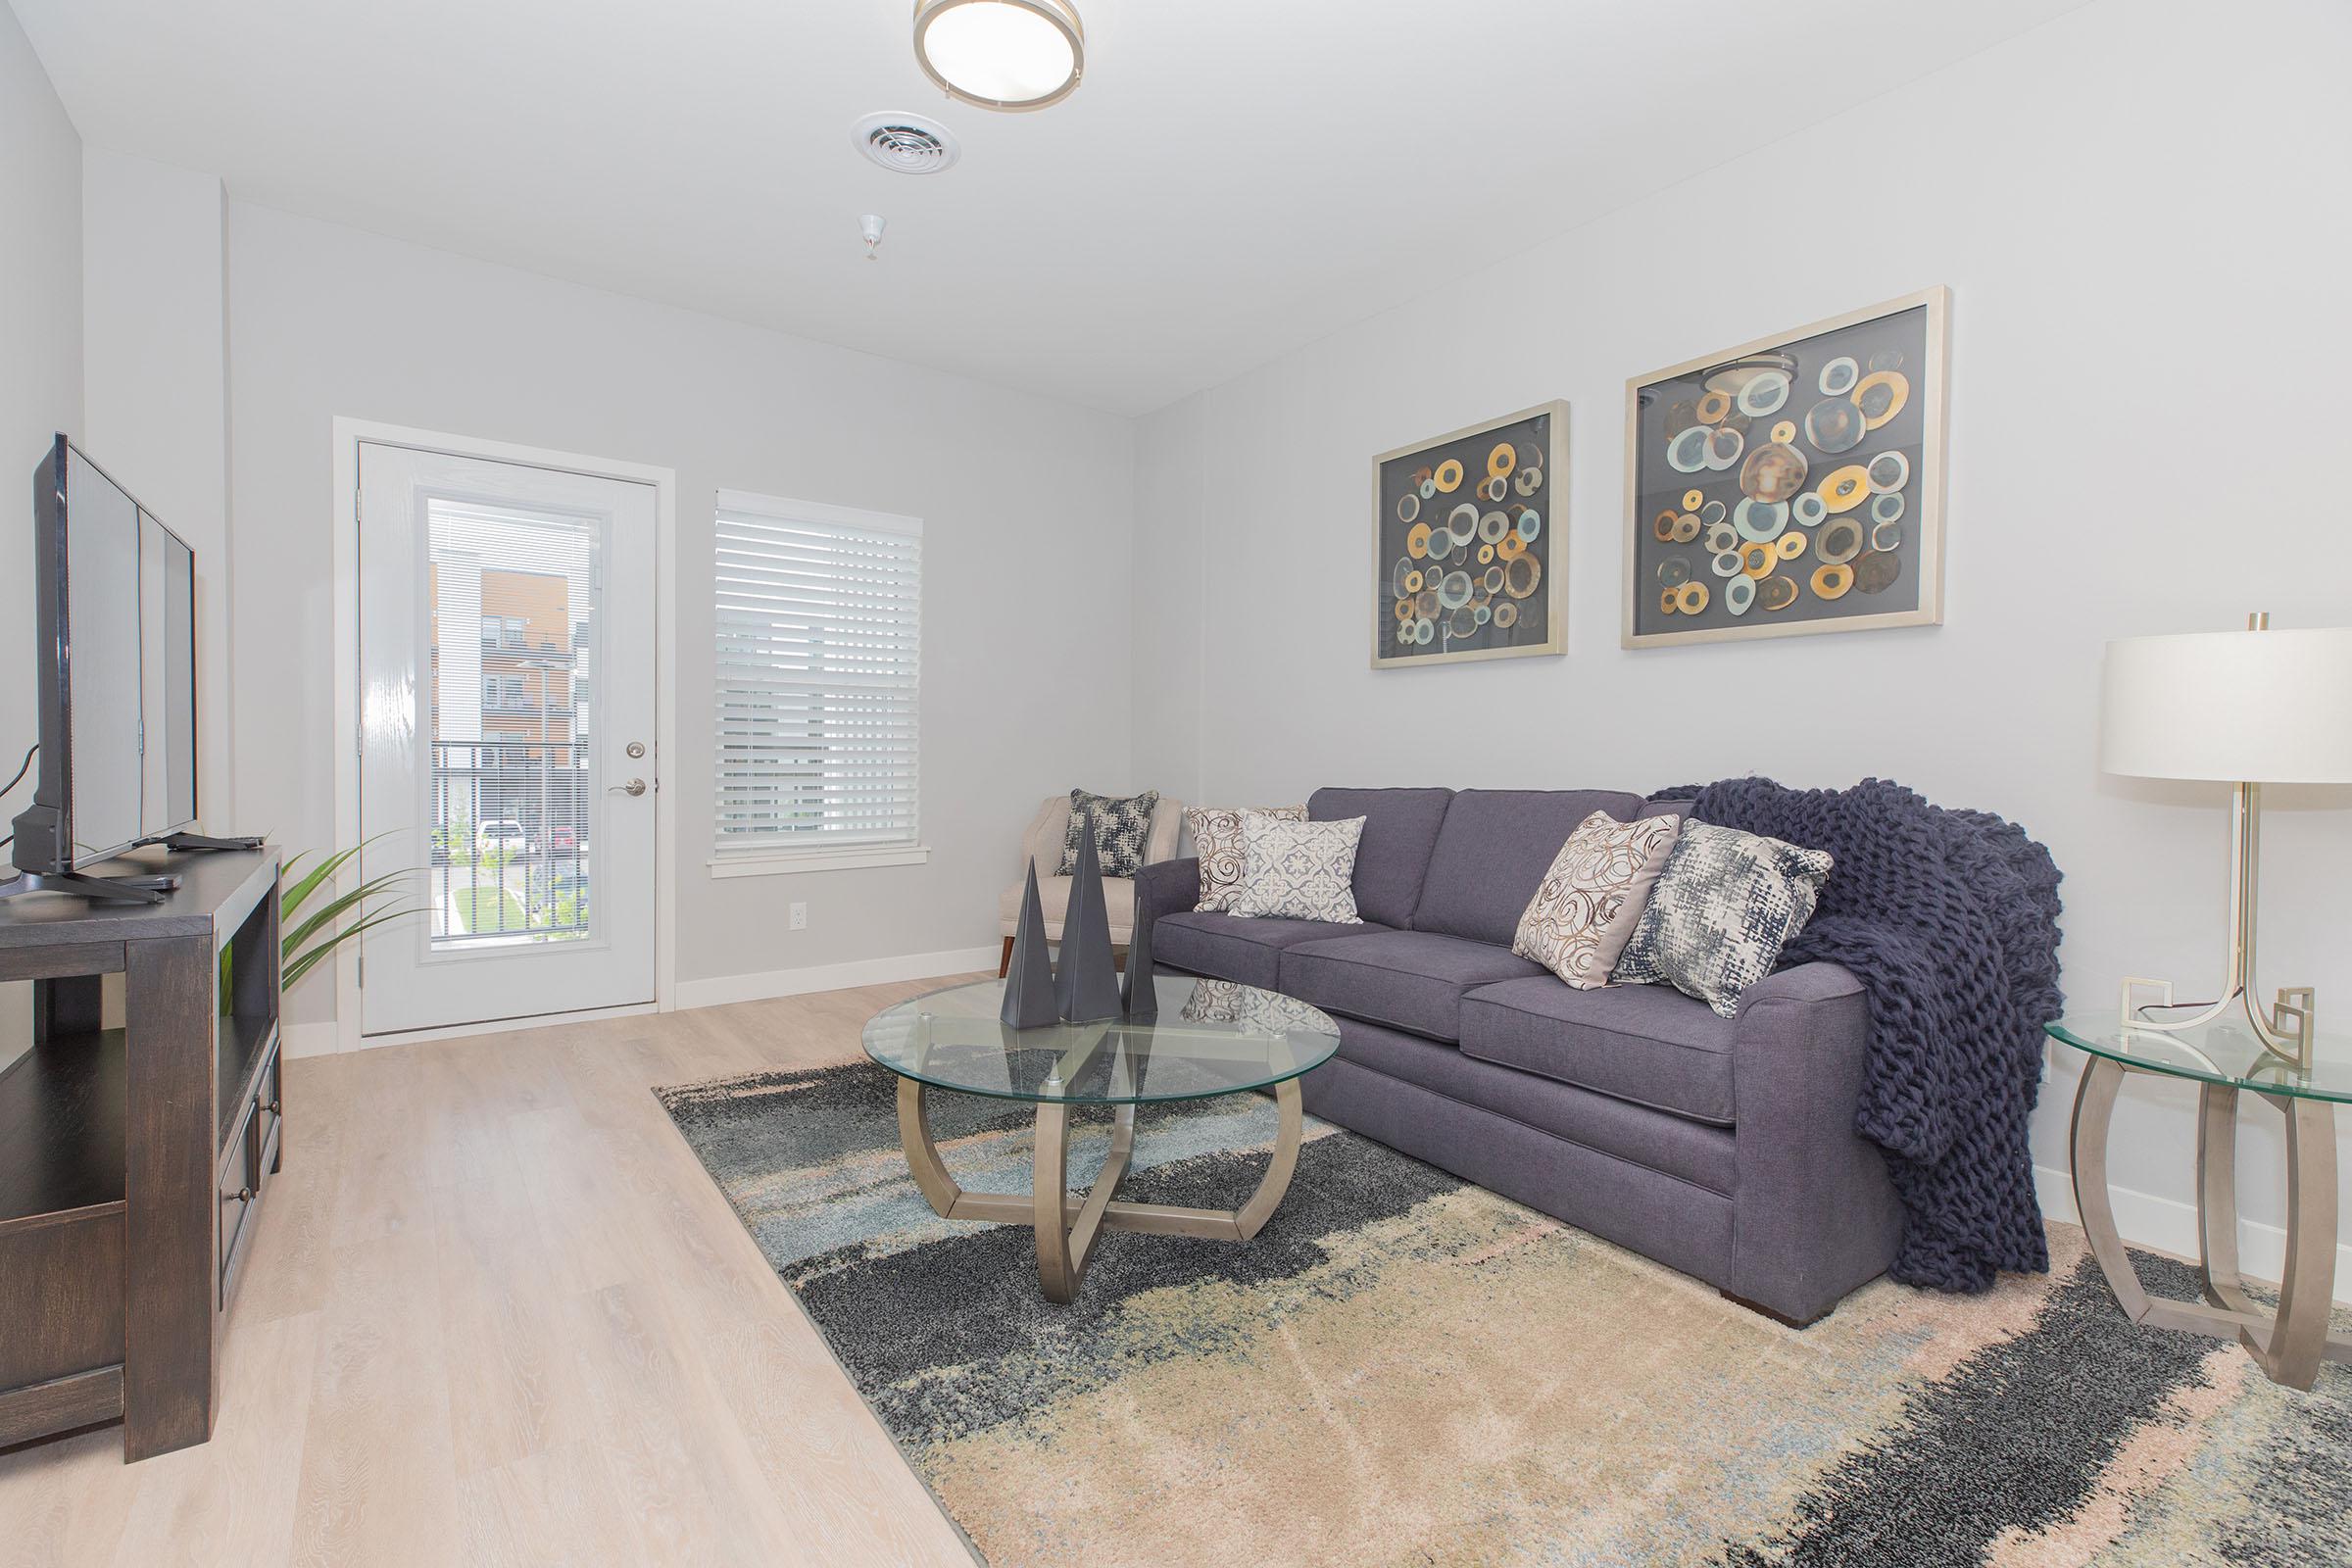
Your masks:
{"label": "white horizontal blind on the window beside the door", "polygon": [[920,520],[720,491],[720,858],[915,844],[920,670]]}

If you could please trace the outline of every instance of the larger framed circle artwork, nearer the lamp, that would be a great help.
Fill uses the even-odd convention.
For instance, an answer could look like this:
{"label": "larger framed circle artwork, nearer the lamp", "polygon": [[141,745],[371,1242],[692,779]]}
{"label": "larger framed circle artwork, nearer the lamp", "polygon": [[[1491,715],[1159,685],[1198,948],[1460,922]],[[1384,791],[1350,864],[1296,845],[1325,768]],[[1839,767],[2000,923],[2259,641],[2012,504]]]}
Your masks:
{"label": "larger framed circle artwork, nearer the lamp", "polygon": [[1630,378],[1621,646],[1943,625],[1947,381],[1943,284]]}

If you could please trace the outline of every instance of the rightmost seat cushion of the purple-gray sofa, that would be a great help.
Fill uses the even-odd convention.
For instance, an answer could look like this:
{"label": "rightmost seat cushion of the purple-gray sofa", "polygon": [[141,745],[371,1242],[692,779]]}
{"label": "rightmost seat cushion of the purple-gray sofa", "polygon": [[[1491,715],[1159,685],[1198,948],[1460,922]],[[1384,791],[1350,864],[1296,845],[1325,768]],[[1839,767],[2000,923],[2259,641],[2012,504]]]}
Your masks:
{"label": "rightmost seat cushion of the purple-gray sofa", "polygon": [[1576,990],[1552,976],[1463,997],[1463,1056],[1731,1126],[1738,1023],[1665,985]]}

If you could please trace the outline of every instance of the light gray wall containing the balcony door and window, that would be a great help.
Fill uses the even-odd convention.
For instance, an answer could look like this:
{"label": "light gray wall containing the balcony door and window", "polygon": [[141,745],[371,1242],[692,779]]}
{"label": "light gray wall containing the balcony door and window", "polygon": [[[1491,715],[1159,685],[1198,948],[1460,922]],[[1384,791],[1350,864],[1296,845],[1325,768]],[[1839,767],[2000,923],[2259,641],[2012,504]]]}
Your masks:
{"label": "light gray wall containing the balcony door and window", "polygon": [[[289,849],[334,830],[339,414],[677,470],[682,987],[988,947],[1037,802],[1127,788],[1127,418],[242,202],[228,364],[238,813]],[[929,865],[708,875],[720,489],[924,520]],[[289,1018],[325,1018],[329,990],[306,985]]]}

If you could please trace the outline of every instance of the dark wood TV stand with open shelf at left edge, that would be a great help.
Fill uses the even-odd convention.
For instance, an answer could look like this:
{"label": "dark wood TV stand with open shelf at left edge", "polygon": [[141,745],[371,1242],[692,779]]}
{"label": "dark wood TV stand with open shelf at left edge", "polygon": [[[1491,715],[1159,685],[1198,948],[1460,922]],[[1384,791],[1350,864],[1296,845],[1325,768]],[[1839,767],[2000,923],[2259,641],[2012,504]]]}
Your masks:
{"label": "dark wood TV stand with open shelf at left edge", "polygon": [[120,1418],[125,1460],[212,1436],[282,1128],[278,851],[136,867],[181,886],[0,900],[0,980],[33,980],[33,1048],[0,1072],[0,1443]]}

